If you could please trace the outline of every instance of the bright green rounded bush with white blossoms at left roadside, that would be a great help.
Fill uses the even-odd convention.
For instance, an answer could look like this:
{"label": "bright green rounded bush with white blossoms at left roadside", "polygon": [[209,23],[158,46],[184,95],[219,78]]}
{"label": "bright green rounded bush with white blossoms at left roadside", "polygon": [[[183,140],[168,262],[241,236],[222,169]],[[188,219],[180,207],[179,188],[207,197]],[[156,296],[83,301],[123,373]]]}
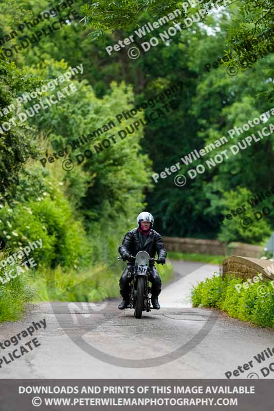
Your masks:
{"label": "bright green rounded bush with white blossoms at left roadside", "polygon": [[[43,248],[32,252],[34,259],[49,267],[78,265],[88,260],[88,241],[80,221],[59,188],[47,189],[24,202],[13,201],[0,210],[2,241],[7,248],[22,249],[29,241],[42,239]],[[41,196],[41,197],[40,197]]]}

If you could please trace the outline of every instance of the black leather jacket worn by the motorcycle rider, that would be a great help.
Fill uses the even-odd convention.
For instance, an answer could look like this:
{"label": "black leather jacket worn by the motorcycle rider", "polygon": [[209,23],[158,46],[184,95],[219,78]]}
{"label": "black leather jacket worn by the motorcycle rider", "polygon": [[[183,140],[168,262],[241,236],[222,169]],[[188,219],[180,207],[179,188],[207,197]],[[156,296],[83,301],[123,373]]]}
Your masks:
{"label": "black leather jacket worn by the motorcycle rider", "polygon": [[119,253],[121,255],[123,253],[129,253],[135,257],[138,251],[142,250],[147,251],[150,258],[155,257],[156,251],[158,253],[158,258],[166,258],[167,256],[167,251],[163,246],[162,237],[159,233],[157,233],[157,231],[150,230],[143,247],[138,228],[134,228],[133,230],[127,232],[124,236],[122,245],[119,247]]}

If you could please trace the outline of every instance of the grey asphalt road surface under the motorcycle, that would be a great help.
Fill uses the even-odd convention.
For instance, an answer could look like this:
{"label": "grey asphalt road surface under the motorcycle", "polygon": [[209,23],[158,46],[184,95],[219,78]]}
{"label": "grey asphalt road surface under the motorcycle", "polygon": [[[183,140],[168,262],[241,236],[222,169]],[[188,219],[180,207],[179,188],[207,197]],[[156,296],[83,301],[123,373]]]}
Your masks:
{"label": "grey asphalt road surface under the motorcycle", "polygon": [[[24,321],[1,324],[3,343],[32,322],[46,320],[46,328],[36,325],[32,337],[0,349],[1,358],[8,358],[8,352],[31,339],[41,344],[32,345],[32,350],[28,348],[29,352],[9,364],[2,363],[0,378],[223,379],[225,372],[238,369],[232,378],[263,379],[261,368],[274,362],[274,354],[271,357],[267,351],[269,358],[265,356],[261,364],[254,356],[267,347],[272,350],[273,331],[254,328],[214,309],[192,308],[192,285],[219,268],[180,261],[172,264],[175,278],[163,287],[161,309],[144,312],[140,320],[133,310],[118,310],[119,300],[111,300],[43,303],[33,306]],[[274,372],[265,378],[274,378]]]}

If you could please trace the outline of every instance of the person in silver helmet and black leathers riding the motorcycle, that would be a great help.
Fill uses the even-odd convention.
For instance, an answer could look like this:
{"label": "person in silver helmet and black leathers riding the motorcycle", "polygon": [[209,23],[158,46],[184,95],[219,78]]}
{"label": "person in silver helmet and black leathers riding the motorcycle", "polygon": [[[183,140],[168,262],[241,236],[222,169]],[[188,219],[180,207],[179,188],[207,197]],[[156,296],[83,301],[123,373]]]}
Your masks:
{"label": "person in silver helmet and black leathers riding the motorcycle", "polygon": [[[127,232],[124,236],[123,243],[119,247],[119,253],[122,259],[125,261],[129,259],[130,255],[136,256],[139,251],[147,251],[150,258],[155,257],[156,251],[158,253],[158,262],[160,264],[166,263],[167,251],[163,247],[162,237],[159,233],[152,230],[153,226],[153,216],[146,211],[140,213],[137,217],[138,227]],[[128,270],[132,268],[132,263],[127,263],[127,267],[120,278],[120,294],[123,297],[123,301],[119,305],[120,310],[124,310],[129,305],[130,300],[130,278],[127,277]],[[151,302],[153,308],[156,310],[160,309],[158,302],[158,295],[161,292],[161,278],[154,267],[154,263],[151,262],[150,265],[151,277],[150,281],[151,287]]]}

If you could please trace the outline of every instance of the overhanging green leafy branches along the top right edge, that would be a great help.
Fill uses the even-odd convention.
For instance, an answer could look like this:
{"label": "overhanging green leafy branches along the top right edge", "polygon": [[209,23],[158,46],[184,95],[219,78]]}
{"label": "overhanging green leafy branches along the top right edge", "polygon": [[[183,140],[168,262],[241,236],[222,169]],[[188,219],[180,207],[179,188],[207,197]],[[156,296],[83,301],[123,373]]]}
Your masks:
{"label": "overhanging green leafy branches along the top right edge", "polygon": [[[208,17],[212,4],[216,1],[208,3],[207,0],[202,0],[197,7],[189,7],[187,10],[182,8],[182,3],[179,4],[175,0],[163,2],[162,0],[154,2],[150,0],[131,0],[131,1],[116,1],[109,3],[107,0],[95,2],[92,5],[85,4],[81,11],[85,15],[83,18],[84,24],[90,23],[95,29],[90,33],[92,40],[97,40],[104,35],[106,30],[127,30],[138,26],[138,18],[144,13],[149,12],[154,18],[159,18],[167,15],[175,9],[180,9],[181,16],[176,19],[176,23],[181,23],[182,27],[186,25],[184,19],[191,17],[195,11],[206,9],[207,12],[201,18],[201,21],[208,22],[211,16]],[[225,7],[221,8],[221,6]],[[229,12],[232,22],[230,22],[229,32],[225,40],[225,48],[232,49],[233,55],[225,65],[233,65],[236,67],[250,67],[256,59],[263,57],[267,46],[272,45],[271,36],[266,34],[272,29],[273,22],[273,7],[271,0],[248,0],[245,2],[220,2],[218,0],[215,7],[220,13],[220,8]],[[214,20],[214,17],[213,17]],[[216,19],[215,19],[216,20]],[[265,41],[254,45],[254,38],[260,35]],[[228,53],[229,53],[228,51]],[[227,54],[228,54],[227,53]],[[268,92],[269,95],[269,92]]]}

